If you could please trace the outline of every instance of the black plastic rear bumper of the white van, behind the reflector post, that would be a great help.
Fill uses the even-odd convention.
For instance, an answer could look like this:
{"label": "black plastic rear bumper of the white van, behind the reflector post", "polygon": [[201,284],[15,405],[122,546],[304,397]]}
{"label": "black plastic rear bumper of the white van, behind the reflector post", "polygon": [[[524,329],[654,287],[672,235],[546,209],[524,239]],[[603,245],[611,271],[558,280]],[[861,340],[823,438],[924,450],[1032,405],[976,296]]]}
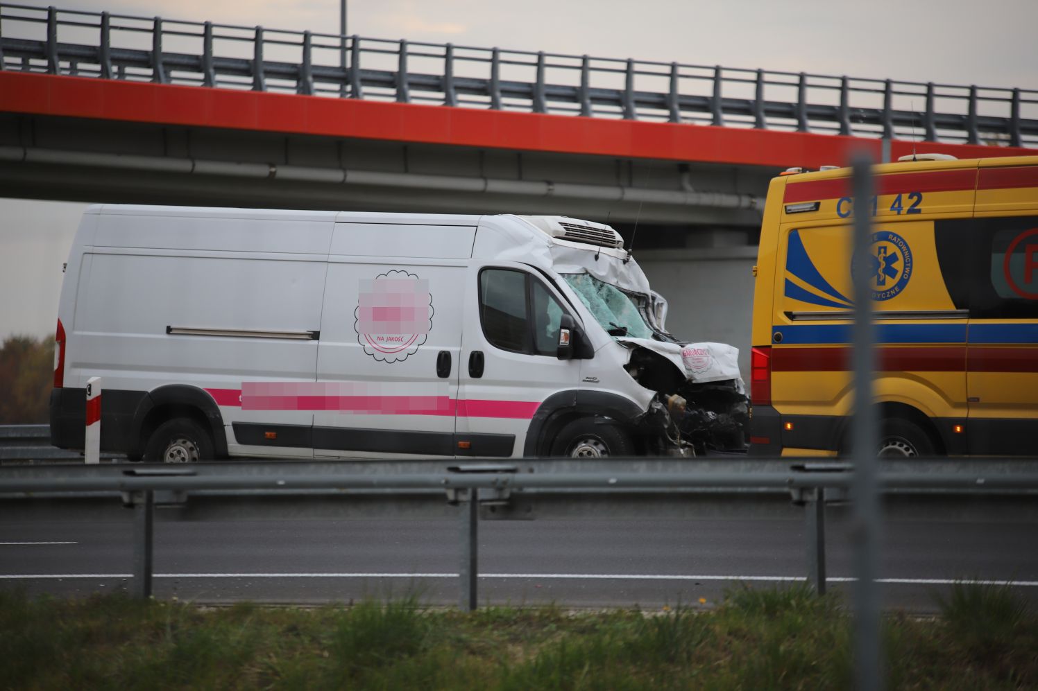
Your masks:
{"label": "black plastic rear bumper of the white van, behind the reflector post", "polygon": [[[134,418],[146,391],[109,389],[102,394],[101,450],[138,453]],[[86,445],[86,389],[51,389],[51,444],[82,450]]]}

